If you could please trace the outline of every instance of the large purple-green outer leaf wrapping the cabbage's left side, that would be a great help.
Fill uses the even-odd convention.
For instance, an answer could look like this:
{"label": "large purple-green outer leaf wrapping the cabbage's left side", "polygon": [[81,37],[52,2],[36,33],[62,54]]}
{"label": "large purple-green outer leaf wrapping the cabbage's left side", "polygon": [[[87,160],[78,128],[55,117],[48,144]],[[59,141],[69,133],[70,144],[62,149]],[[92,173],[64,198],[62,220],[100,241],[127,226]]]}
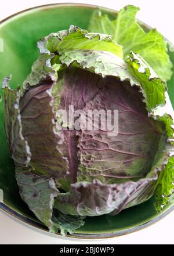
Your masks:
{"label": "large purple-green outer leaf wrapping the cabbage's left side", "polygon": [[[59,193],[56,188],[59,183],[56,184],[55,181],[66,174],[68,165],[67,160],[62,157],[57,148],[58,139],[56,138],[50,104],[52,96],[49,93],[52,85],[41,85],[38,88],[33,88],[24,93],[21,98],[19,91],[10,89],[9,80],[10,78],[5,78],[3,81],[5,129],[10,154],[16,165],[16,181],[20,196],[51,232],[57,232],[60,229],[62,235],[66,235],[67,232],[72,233],[79,226],[84,225],[82,219],[68,218],[57,211],[53,214],[54,198]],[[27,110],[26,106],[29,106]],[[44,120],[48,118],[47,125],[42,124],[42,116],[44,116]],[[34,127],[30,123],[32,121],[35,122],[35,129],[29,131],[30,128]],[[39,126],[40,124],[42,125]],[[44,134],[40,136],[44,129],[47,132],[45,140]],[[33,138],[30,138],[31,134]],[[31,147],[28,146],[28,142]],[[41,156],[41,150],[45,153],[44,156]],[[59,161],[59,164],[55,163],[55,159]],[[70,223],[67,223],[67,218],[71,220]]]}

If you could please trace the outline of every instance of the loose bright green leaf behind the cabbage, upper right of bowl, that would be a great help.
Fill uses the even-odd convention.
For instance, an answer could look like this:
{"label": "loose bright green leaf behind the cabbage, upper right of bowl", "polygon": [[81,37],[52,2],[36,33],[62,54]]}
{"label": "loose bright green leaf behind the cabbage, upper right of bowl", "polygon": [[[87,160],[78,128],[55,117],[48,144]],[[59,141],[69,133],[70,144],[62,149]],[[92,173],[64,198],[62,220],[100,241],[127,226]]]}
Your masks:
{"label": "loose bright green leaf behind the cabbage, upper right of bowl", "polygon": [[139,53],[160,77],[170,80],[172,62],[165,39],[156,29],[148,33],[143,30],[135,19],[138,10],[133,5],[125,6],[113,21],[106,15],[102,16],[100,10],[95,10],[88,30],[113,35],[113,40],[123,46],[125,57],[131,51]]}

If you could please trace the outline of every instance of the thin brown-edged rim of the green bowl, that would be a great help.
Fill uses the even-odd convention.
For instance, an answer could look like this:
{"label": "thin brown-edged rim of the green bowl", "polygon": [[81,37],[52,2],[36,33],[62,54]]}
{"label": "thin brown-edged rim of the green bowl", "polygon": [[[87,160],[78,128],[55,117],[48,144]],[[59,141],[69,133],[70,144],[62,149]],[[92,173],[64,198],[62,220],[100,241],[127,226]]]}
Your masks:
{"label": "thin brown-edged rim of the green bowl", "polygon": [[[112,12],[117,14],[118,11],[111,9],[111,8],[107,8],[104,6],[100,6],[100,5],[91,5],[88,3],[73,3],[73,2],[68,2],[68,3],[48,3],[46,5],[38,5],[38,6],[34,6],[31,8],[27,8],[24,10],[21,10],[19,12],[16,12],[8,17],[6,17],[5,19],[2,19],[0,21],[0,28],[8,21],[10,21],[11,19],[13,20],[13,18],[15,19],[17,16],[20,15],[25,15],[26,13],[30,13],[32,11],[37,11],[39,9],[45,9],[45,8],[55,8],[56,6],[77,6],[77,7],[86,7],[86,8],[91,8],[91,9],[96,9],[96,8],[101,8],[103,10],[108,10],[108,12]],[[138,20],[138,19],[137,19]],[[143,21],[138,20],[139,23],[148,28],[149,30],[152,29],[151,26],[147,25],[146,23],[144,23]],[[166,39],[166,38],[165,38]],[[173,46],[172,42],[170,42],[168,39],[166,39],[166,41],[168,41],[168,43],[170,45]],[[9,214],[11,217],[14,217],[15,219],[17,219],[20,223],[25,223],[28,226],[32,226],[34,227],[36,230],[42,230],[44,232],[46,232],[47,235],[49,235],[49,230],[46,228],[46,226],[44,224],[42,224],[41,222],[36,222],[28,217],[25,217],[21,214],[19,214],[19,212],[13,210],[12,208],[10,208],[8,205],[6,205],[5,203],[2,203],[0,201],[0,210],[5,212],[6,214]],[[129,233],[133,233],[142,229],[147,228],[148,226],[153,225],[154,223],[160,221],[160,219],[164,218],[166,215],[168,215],[170,212],[172,212],[174,210],[174,204],[171,206],[169,206],[169,208],[167,210],[165,210],[162,213],[159,213],[157,215],[157,217],[151,219],[150,221],[147,221],[146,223],[137,225],[133,228],[127,228],[124,230],[120,230],[120,231],[116,231],[116,232],[106,232],[106,233],[74,233],[73,235],[67,235],[66,237],[68,238],[73,238],[73,239],[107,239],[107,238],[113,238],[113,237],[117,237],[117,236],[123,236],[123,235],[128,235]],[[52,236],[61,236],[60,233],[56,233],[55,235],[51,234]]]}

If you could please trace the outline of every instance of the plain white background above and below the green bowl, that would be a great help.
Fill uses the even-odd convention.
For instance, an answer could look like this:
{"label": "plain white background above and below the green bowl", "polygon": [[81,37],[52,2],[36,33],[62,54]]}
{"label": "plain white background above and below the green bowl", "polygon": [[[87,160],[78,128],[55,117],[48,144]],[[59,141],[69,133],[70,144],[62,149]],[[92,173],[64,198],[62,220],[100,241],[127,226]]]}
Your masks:
{"label": "plain white background above and below the green bowl", "polygon": [[[5,0],[1,2],[0,20],[23,9],[57,2],[70,2],[70,0]],[[79,0],[73,2],[90,3],[116,10],[128,4],[139,6],[141,10],[137,18],[151,27],[157,27],[158,31],[174,43],[174,3],[171,0]],[[48,235],[0,211],[0,244],[174,244],[173,230],[174,211],[160,222],[129,235],[105,240],[77,240]]]}

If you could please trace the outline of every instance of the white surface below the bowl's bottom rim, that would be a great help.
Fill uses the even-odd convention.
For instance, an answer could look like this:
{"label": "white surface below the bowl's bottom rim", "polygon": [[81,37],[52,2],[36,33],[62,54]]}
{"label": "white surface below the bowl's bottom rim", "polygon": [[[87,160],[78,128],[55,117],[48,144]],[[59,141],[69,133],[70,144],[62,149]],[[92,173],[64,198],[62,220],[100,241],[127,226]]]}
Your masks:
{"label": "white surface below the bowl's bottom rim", "polygon": [[54,236],[0,211],[0,244],[173,244],[174,212],[146,229],[112,239],[84,240]]}

